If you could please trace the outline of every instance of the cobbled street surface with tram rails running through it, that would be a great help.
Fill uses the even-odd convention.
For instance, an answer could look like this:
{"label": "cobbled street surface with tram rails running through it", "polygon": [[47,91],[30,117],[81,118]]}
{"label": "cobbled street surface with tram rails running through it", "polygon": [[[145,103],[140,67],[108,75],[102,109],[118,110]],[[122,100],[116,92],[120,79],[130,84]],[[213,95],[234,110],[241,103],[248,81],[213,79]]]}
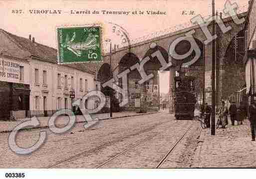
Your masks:
{"label": "cobbled street surface with tram rails running through it", "polygon": [[103,120],[89,129],[83,125],[77,123],[63,135],[52,134],[47,128],[19,132],[16,141],[20,147],[33,145],[40,131],[48,135],[40,149],[25,156],[11,152],[7,144],[9,133],[1,133],[0,165],[2,168],[155,168],[188,131],[161,168],[191,167],[201,133],[198,121],[177,121],[167,111]]}

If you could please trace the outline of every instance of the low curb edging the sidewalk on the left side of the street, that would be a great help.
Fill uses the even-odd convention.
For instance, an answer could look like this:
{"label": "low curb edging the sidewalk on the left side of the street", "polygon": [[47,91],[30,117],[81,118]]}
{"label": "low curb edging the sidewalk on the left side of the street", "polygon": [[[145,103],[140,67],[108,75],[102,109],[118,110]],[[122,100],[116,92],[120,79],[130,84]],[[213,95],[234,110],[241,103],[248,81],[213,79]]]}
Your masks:
{"label": "low curb edging the sidewalk on the left side of the street", "polygon": [[[157,114],[160,112],[152,112],[152,113],[142,113],[142,114],[135,114],[135,115],[126,115],[126,116],[118,116],[118,117],[112,117],[112,118],[103,118],[103,119],[99,119],[99,121],[103,121],[103,120],[111,120],[111,119],[118,119],[118,118],[128,118],[128,117],[133,117],[133,116],[144,116],[144,115],[150,115],[150,114]],[[75,124],[77,123],[85,123],[86,121],[76,121]],[[55,127],[63,127],[65,125],[55,125]],[[33,128],[23,128],[20,129],[19,131],[26,131],[26,130],[33,130],[33,129],[46,129],[49,128],[49,126],[39,126],[39,127],[33,127]],[[2,133],[10,133],[12,132],[12,130],[6,130],[6,131],[0,131],[0,134]]]}

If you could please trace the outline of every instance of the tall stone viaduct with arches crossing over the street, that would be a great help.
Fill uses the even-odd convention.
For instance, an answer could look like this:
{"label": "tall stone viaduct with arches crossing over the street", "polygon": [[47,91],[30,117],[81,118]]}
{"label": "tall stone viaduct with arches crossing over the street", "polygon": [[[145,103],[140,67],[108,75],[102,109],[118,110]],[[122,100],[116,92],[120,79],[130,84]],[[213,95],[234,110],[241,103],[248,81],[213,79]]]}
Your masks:
{"label": "tall stone viaduct with arches crossing over the street", "polygon": [[[246,17],[247,12],[239,14],[239,18]],[[222,18],[219,16],[219,18]],[[231,30],[223,33],[219,27],[216,25],[217,43],[216,43],[216,102],[220,103],[221,99],[226,99],[234,91],[243,87],[245,83],[244,77],[244,67],[243,67],[243,43],[244,43],[244,23],[236,24],[232,17],[227,17],[222,19],[226,26],[231,26]],[[212,32],[212,24],[208,25],[208,29]],[[169,46],[177,38],[185,36],[185,34],[191,30],[194,30],[193,37],[196,40],[198,46],[201,50],[201,56],[197,62],[186,68],[188,75],[196,76],[196,91],[198,96],[202,96],[203,92],[203,80],[204,80],[204,64],[205,71],[210,73],[212,68],[212,42],[204,44],[207,39],[204,32],[199,25],[194,25],[189,28],[185,28],[179,31],[175,31],[166,35],[162,35],[156,38],[152,38],[146,41],[141,41],[136,44],[131,44],[127,47],[123,47],[115,50],[111,55],[111,68],[114,69],[114,76],[118,73],[124,71],[125,69],[131,67],[135,63],[139,63],[146,56],[150,56],[156,49],[160,50],[165,60],[168,62],[170,59]],[[152,47],[152,43],[155,44]],[[240,46],[236,46],[237,50],[234,51],[234,44],[237,43]],[[175,47],[178,54],[184,54],[189,51],[190,46],[186,43],[186,40],[180,42]],[[235,53],[238,52],[239,53]],[[193,52],[189,60],[195,56]],[[145,71],[149,70],[159,70],[161,65],[156,58],[152,58],[144,65]],[[204,63],[205,61],[205,63]],[[111,73],[110,70],[110,55],[104,55],[104,60],[102,63],[97,64],[98,69],[98,79],[103,83]],[[170,96],[171,91],[174,87],[173,77],[175,76],[176,68],[167,68],[165,70],[170,70]],[[137,77],[140,78],[139,72],[135,69],[128,74],[128,78]],[[211,80],[211,79],[205,79]],[[122,81],[119,80],[119,85],[122,86]],[[129,86],[129,85],[128,85]],[[211,90],[210,86],[206,86],[206,91]],[[128,89],[129,91],[129,89]],[[172,99],[170,97],[170,99]]]}

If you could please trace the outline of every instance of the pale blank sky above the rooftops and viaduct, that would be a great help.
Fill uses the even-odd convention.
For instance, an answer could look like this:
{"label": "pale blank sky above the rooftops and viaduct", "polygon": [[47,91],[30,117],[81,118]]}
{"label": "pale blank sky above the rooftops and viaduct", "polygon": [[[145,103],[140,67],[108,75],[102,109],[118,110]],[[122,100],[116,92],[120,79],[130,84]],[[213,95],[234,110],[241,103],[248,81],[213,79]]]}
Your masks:
{"label": "pale blank sky above the rooftops and viaduct", "polygon": [[[242,7],[248,5],[249,0],[230,1]],[[222,12],[225,2],[215,0],[216,10]],[[20,10],[21,13],[13,13],[13,10]],[[48,13],[31,13],[34,10],[48,10]],[[50,14],[50,10],[61,10],[61,13]],[[71,14],[71,10],[84,11],[84,14]],[[100,13],[92,14],[94,10]],[[103,14],[102,10],[129,11],[129,14]],[[158,10],[165,14],[146,13]],[[90,13],[86,14],[86,11]],[[132,14],[135,11],[137,14]],[[144,14],[138,14],[139,11],[144,11]],[[194,14],[186,15],[183,11],[194,11]],[[0,28],[26,38],[31,34],[36,42],[56,48],[56,26],[99,23],[104,30],[103,41],[107,38],[114,41],[117,37],[112,34],[109,22],[125,29],[129,39],[136,39],[186,23],[195,15],[207,16],[211,13],[212,0],[0,0]],[[160,92],[168,93],[168,86],[169,73],[160,73]]]}

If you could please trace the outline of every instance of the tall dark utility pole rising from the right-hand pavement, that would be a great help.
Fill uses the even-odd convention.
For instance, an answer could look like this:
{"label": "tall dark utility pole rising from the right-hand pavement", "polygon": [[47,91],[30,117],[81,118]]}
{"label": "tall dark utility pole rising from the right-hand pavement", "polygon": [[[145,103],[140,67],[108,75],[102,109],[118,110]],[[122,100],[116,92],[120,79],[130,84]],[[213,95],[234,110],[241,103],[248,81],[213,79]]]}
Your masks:
{"label": "tall dark utility pole rising from the right-hand pavement", "polygon": [[[213,6],[213,35],[215,35],[215,0],[212,1]],[[215,39],[212,43],[213,58],[212,58],[212,121],[211,121],[211,135],[215,135]]]}

